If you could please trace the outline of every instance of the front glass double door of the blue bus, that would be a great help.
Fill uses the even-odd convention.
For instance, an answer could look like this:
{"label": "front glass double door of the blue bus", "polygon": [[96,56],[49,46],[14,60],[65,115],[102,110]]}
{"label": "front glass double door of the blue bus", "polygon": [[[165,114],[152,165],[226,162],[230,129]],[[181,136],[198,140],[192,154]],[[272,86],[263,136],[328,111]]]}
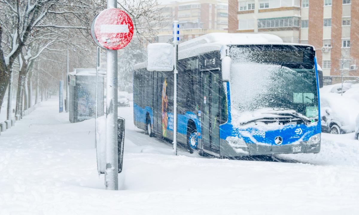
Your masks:
{"label": "front glass double door of the blue bus", "polygon": [[202,71],[202,147],[219,154],[219,70]]}

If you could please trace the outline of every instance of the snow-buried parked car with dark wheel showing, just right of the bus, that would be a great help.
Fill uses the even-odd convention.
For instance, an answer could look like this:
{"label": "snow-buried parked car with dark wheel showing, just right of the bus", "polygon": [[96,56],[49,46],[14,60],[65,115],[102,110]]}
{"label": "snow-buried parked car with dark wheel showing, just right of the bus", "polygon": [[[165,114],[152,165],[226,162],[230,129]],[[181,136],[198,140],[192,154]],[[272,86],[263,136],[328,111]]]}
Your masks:
{"label": "snow-buried parked car with dark wheel showing, just right of the bus", "polygon": [[355,131],[359,102],[336,93],[320,95],[322,132],[345,134]]}

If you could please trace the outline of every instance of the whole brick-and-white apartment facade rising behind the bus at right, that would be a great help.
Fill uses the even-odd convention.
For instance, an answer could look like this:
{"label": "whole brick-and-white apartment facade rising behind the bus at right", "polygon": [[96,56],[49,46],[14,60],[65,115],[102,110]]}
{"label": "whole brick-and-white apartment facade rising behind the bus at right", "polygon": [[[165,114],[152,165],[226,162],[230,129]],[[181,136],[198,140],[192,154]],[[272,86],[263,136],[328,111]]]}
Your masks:
{"label": "whole brick-and-white apartment facade rising behind the bus at right", "polygon": [[[359,76],[359,0],[229,0],[228,32],[311,44],[325,76]],[[337,81],[334,81],[337,82]]]}

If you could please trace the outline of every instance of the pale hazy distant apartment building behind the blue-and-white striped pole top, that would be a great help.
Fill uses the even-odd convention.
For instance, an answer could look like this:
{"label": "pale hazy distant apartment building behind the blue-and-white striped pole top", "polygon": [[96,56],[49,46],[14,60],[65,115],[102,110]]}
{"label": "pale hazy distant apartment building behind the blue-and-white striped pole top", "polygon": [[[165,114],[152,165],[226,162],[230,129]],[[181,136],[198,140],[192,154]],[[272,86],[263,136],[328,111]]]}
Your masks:
{"label": "pale hazy distant apartment building behind the blue-and-white striped pole top", "polygon": [[172,22],[180,22],[180,40],[186,41],[213,32],[227,32],[227,0],[195,0],[173,2],[160,6],[160,11],[168,19],[160,23],[157,42],[172,39]]}

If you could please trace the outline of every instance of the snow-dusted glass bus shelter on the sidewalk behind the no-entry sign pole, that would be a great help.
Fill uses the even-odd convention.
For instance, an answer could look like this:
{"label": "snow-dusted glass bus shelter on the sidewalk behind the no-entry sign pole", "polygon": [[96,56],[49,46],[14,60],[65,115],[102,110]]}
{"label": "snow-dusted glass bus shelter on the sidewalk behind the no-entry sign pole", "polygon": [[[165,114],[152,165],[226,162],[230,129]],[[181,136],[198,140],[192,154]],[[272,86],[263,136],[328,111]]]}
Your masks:
{"label": "snow-dusted glass bus shelter on the sidewalk behind the no-entry sign pole", "polygon": [[[74,69],[67,77],[69,81],[69,118],[77,123],[95,118],[96,69]],[[104,114],[104,75],[98,75],[97,116]]]}

